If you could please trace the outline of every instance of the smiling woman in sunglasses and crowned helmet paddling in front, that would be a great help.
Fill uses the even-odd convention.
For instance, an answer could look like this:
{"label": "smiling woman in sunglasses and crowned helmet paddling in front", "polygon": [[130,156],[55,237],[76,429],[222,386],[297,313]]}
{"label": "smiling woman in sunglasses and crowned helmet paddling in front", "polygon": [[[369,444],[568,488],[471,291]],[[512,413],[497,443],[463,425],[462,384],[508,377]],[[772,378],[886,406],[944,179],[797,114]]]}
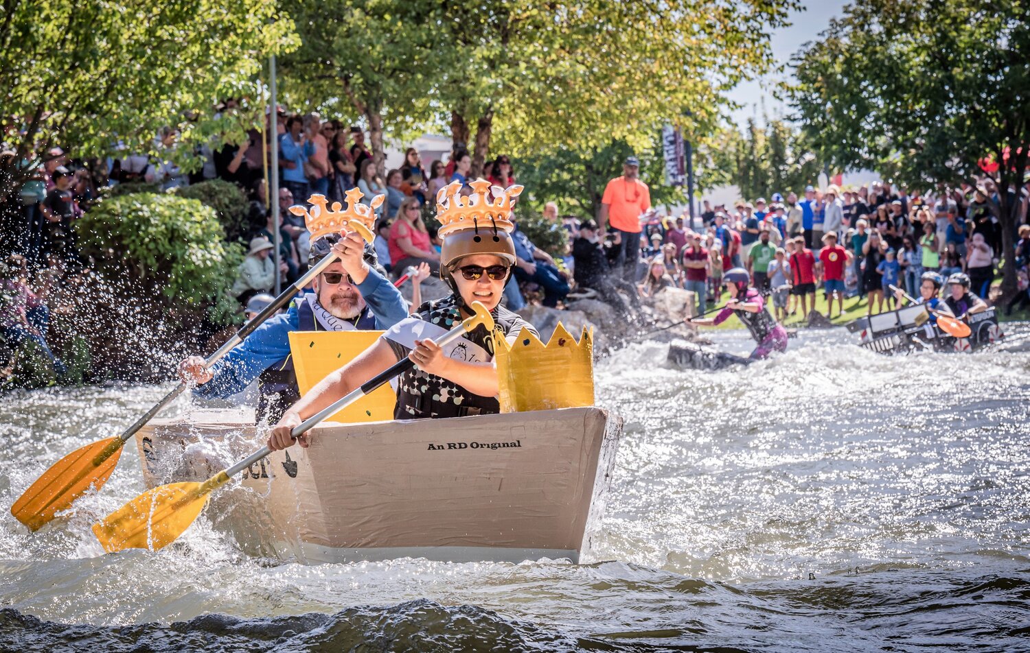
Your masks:
{"label": "smiling woman in sunglasses and crowned helmet paddling in front", "polygon": [[[269,433],[269,448],[290,446],[290,429],[369,378],[407,356],[417,367],[401,374],[397,387],[394,419],[458,418],[500,412],[497,372],[492,362],[493,341],[480,325],[464,338],[442,350],[436,344],[448,330],[473,315],[469,305],[479,301],[489,310],[494,331],[514,342],[524,328],[538,335],[531,325],[500,305],[505,284],[515,264],[515,246],[510,221],[512,204],[522,186],[502,191],[479,179],[470,184],[473,193],[460,195],[460,182],[437,193],[437,218],[442,224],[440,277],[451,294],[427,301],[410,318],[379,337],[353,361],[323,378],[290,407]],[[491,193],[493,199],[488,201]],[[337,245],[335,247],[342,247]],[[297,439],[308,445],[307,436]]]}

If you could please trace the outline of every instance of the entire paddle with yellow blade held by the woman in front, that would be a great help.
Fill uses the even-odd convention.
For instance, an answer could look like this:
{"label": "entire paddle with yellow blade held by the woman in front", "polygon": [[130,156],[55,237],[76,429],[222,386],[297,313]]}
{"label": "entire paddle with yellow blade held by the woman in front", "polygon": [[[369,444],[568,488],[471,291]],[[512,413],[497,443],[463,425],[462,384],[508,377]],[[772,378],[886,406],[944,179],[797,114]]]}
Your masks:
{"label": "entire paddle with yellow blade held by the woman in front", "polygon": [[[449,344],[481,324],[486,326],[488,330],[493,328],[493,318],[486,306],[476,301],[473,302],[472,309],[475,314],[451,329],[447,335],[440,338],[437,344],[441,347]],[[290,435],[296,439],[322,420],[357,401],[394,376],[411,369],[414,365],[415,363],[409,358],[398,361],[370,378],[360,388],[347,393],[331,406],[297,425]],[[263,446],[236,465],[218,472],[204,482],[170,483],[148,489],[94,524],[93,532],[100,540],[104,550],[109,553],[137,548],[157,550],[168,546],[190,528],[190,524],[204,509],[212,492],[228,483],[235,474],[250,467],[271,452],[272,449],[268,448],[267,445]]]}

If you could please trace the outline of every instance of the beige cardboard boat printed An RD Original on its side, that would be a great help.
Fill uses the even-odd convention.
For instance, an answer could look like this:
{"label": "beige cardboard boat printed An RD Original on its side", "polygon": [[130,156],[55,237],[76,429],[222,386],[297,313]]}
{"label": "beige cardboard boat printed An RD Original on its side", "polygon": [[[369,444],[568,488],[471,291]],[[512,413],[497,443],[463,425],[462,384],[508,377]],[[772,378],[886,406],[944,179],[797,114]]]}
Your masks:
{"label": "beige cardboard boat printed An RD Original on its side", "polygon": [[[324,423],[207,514],[248,553],[339,563],[404,556],[579,561],[605,507],[622,420],[596,407]],[[136,434],[148,487],[202,480],[262,444],[242,410]]]}

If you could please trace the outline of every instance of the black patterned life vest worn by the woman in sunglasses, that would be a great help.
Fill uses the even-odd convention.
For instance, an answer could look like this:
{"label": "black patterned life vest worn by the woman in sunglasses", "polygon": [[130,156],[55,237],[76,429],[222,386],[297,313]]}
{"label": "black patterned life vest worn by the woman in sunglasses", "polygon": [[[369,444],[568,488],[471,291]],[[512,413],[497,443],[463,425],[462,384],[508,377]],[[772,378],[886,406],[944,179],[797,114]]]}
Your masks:
{"label": "black patterned life vest worn by the woman in sunglasses", "polygon": [[[493,330],[503,336],[511,333],[517,334],[522,328],[537,333],[537,330],[520,316],[500,304],[491,312],[491,315],[493,316]],[[448,330],[461,321],[460,312],[453,295],[423,303],[412,317],[417,317]],[[467,333],[465,338],[483,348],[492,360],[493,338],[486,327],[480,325],[471,333]],[[461,418],[497,412],[501,412],[501,404],[496,397],[481,397],[473,394],[453,382],[436,374],[427,374],[417,367],[404,372],[398,378],[394,420]]]}

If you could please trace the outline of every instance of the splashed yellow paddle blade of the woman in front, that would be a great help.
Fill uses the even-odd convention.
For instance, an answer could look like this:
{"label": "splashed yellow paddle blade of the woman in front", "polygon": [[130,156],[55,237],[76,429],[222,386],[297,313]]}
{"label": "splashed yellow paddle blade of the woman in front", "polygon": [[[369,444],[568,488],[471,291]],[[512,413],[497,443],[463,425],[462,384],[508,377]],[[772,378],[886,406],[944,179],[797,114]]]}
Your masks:
{"label": "splashed yellow paddle blade of the woman in front", "polygon": [[178,539],[207,505],[211,492],[227,482],[229,475],[222,471],[202,483],[159,485],[95,523],[93,533],[108,553],[156,551]]}

